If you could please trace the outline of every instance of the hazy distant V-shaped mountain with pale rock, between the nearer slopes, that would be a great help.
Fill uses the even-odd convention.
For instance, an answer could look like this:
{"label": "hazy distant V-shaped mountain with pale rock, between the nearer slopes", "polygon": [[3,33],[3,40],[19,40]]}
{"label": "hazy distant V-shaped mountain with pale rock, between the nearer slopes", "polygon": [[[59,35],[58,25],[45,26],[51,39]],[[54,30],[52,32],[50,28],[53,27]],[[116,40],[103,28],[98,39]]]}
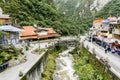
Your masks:
{"label": "hazy distant V-shaped mountain with pale rock, between the nearer slopes", "polygon": [[[110,0],[53,0],[56,9],[65,18],[77,23],[84,32],[92,26],[95,14]],[[77,27],[76,27],[77,28]]]}

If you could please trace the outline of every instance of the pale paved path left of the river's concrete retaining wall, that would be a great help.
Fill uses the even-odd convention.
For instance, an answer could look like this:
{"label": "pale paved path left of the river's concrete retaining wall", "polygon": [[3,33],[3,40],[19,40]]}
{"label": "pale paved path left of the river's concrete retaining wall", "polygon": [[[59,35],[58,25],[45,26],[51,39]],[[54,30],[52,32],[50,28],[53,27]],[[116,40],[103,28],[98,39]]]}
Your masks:
{"label": "pale paved path left of the river's concrete retaining wall", "polygon": [[[41,43],[40,47],[45,48],[45,45],[48,45],[48,43]],[[43,53],[41,55],[31,53],[38,48],[38,44],[32,44],[31,46],[33,48],[26,52],[27,61],[0,73],[0,80],[20,80],[19,71],[22,70],[23,73],[26,73],[37,62]]]}

